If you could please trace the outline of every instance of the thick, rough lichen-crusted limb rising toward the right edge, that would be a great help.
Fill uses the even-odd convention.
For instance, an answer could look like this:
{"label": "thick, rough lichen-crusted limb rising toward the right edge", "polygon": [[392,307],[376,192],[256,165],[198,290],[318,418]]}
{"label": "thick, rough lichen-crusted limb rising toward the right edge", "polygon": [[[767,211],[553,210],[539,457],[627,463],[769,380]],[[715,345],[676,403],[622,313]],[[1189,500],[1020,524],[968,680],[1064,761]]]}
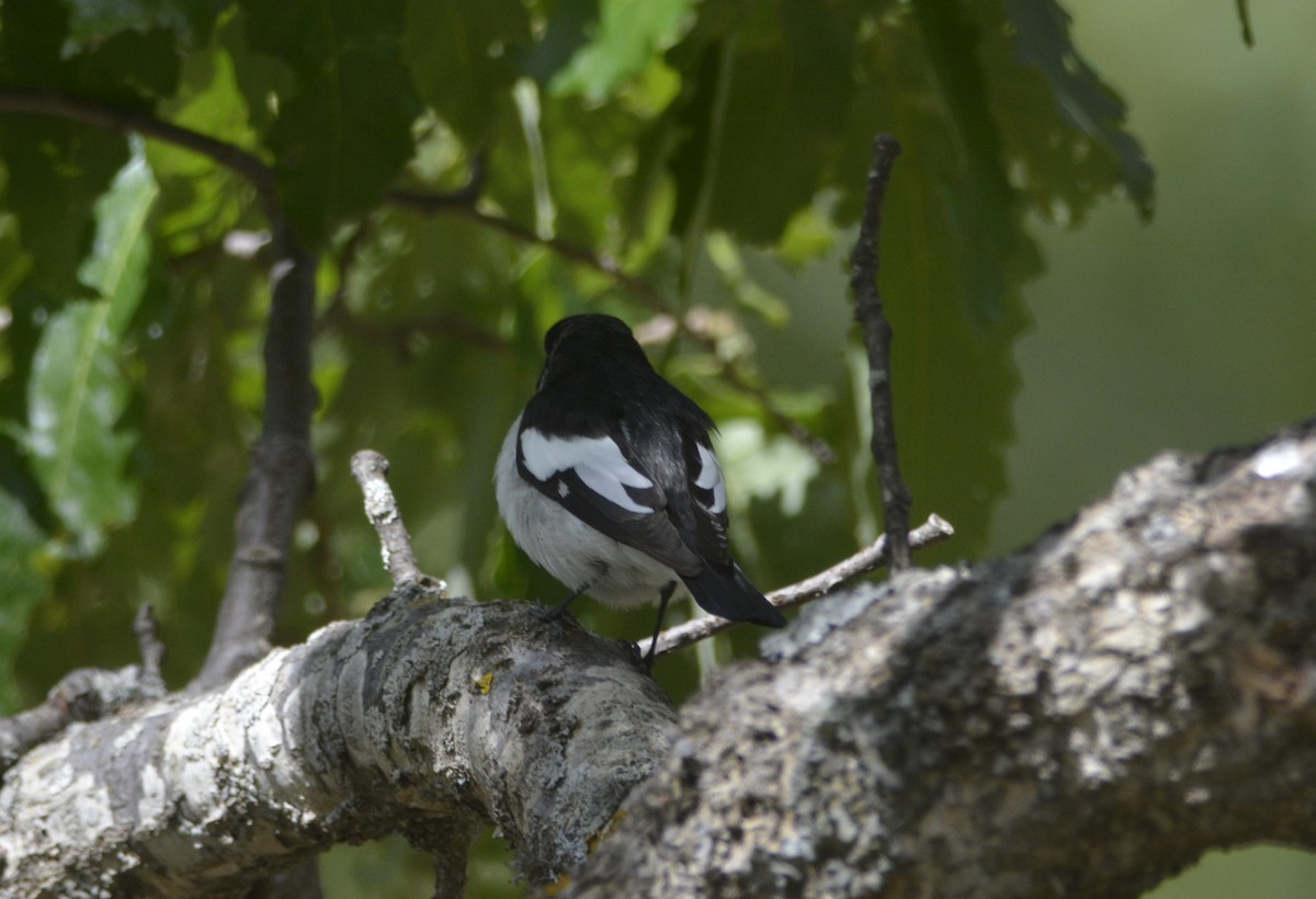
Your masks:
{"label": "thick, rough lichen-crusted limb rising toward the right edge", "polygon": [[765,646],[567,895],[1137,896],[1212,848],[1316,846],[1316,421]]}

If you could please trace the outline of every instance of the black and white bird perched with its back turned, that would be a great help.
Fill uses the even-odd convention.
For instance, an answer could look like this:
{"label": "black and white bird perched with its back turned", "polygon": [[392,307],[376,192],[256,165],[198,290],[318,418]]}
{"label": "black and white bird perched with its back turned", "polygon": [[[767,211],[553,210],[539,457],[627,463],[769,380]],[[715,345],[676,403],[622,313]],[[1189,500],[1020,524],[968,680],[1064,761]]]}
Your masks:
{"label": "black and white bird perched with its back turned", "polygon": [[658,600],[646,662],[678,583],[705,611],[782,627],[726,545],[713,421],[653,370],[630,329],[570,316],[544,338],[538,388],[512,423],[494,480],[517,545],[571,596]]}

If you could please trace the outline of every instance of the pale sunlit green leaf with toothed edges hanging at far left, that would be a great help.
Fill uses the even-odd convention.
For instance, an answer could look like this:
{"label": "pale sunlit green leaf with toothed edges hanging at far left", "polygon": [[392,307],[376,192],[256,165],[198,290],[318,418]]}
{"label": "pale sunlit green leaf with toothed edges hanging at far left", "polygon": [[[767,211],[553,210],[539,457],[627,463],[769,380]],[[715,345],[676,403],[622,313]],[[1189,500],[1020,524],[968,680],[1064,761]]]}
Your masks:
{"label": "pale sunlit green leaf with toothed edges hanging at far left", "polygon": [[137,484],[124,470],[136,437],[120,429],[130,390],[118,340],[142,296],[155,193],[137,158],[97,203],[95,249],[80,274],[104,299],[71,303],[50,319],[28,384],[32,469],[83,553],[99,549],[107,525],[136,512]]}

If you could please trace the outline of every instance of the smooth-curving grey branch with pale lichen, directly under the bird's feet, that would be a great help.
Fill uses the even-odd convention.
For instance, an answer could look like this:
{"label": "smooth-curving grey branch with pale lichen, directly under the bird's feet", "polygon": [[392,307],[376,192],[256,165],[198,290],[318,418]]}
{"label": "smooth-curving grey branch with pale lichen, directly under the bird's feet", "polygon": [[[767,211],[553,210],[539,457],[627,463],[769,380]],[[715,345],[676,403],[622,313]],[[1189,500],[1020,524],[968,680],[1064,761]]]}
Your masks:
{"label": "smooth-curving grey branch with pale lichen, directly under the bird's feet", "polygon": [[221,691],[29,752],[0,788],[0,894],[243,895],[340,841],[403,832],[465,857],[488,821],[546,883],[672,719],[628,646],[413,584]]}

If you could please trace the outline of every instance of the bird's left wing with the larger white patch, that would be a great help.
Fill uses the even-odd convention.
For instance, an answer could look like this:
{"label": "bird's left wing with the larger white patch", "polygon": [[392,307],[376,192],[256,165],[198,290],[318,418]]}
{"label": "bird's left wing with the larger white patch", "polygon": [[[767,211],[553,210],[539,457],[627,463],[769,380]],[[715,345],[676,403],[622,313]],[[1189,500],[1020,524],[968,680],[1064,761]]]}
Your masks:
{"label": "bird's left wing with the larger white patch", "polygon": [[[522,421],[517,471],[595,530],[633,546],[679,575],[703,569],[667,509],[661,479],[608,434],[551,434]],[[719,479],[720,479],[719,474]]]}

